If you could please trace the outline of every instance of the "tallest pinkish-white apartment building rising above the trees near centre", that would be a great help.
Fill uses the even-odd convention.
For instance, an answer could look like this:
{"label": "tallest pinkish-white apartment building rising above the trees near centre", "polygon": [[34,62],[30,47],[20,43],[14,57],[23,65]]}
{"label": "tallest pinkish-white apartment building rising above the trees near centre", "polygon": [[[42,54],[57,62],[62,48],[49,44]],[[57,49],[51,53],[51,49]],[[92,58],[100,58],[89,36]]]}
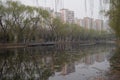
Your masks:
{"label": "tallest pinkish-white apartment building rising above the trees near centre", "polygon": [[65,23],[74,23],[74,11],[68,9],[61,9],[61,18]]}

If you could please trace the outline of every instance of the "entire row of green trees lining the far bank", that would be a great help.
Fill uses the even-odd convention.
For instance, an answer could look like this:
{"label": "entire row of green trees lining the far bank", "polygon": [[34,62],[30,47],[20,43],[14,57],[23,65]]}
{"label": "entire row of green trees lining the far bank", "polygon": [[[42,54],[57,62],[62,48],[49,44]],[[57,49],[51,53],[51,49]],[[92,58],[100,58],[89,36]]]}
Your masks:
{"label": "entire row of green trees lining the far bank", "polygon": [[42,8],[0,1],[0,43],[95,41],[108,38],[111,35],[105,31],[63,23]]}

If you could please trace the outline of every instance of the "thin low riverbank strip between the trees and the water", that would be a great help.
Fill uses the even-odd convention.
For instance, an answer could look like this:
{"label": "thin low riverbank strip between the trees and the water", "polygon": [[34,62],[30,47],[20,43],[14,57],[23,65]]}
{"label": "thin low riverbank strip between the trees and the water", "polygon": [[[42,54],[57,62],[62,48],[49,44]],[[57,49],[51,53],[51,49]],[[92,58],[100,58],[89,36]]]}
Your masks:
{"label": "thin low riverbank strip between the trees and the water", "polygon": [[97,41],[97,42],[43,42],[43,43],[0,43],[1,48],[25,48],[35,46],[54,46],[59,44],[79,44],[81,46],[91,46],[95,44],[115,44],[114,41]]}

